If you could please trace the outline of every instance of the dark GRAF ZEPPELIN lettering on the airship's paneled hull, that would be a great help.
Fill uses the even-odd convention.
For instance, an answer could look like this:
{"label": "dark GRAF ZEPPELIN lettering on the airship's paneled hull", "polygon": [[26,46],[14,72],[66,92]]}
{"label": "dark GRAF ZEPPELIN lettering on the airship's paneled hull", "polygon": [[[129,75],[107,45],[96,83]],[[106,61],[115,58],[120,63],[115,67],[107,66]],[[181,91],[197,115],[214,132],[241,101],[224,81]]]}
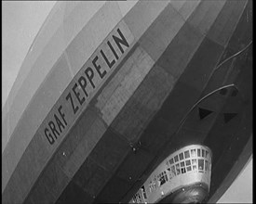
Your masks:
{"label": "dark GRAF ZEPPELIN lettering on the airship's paneled hull", "polygon": [[[59,99],[61,104],[56,105],[58,107],[54,108],[51,117],[47,118],[44,135],[50,145],[58,140],[70,125],[69,122],[74,121],[70,117],[76,117],[79,110],[88,104],[89,98],[101,86],[102,81],[109,77],[109,72],[129,47],[127,38],[126,32],[115,28],[75,75]],[[67,116],[67,112],[71,116]]]}

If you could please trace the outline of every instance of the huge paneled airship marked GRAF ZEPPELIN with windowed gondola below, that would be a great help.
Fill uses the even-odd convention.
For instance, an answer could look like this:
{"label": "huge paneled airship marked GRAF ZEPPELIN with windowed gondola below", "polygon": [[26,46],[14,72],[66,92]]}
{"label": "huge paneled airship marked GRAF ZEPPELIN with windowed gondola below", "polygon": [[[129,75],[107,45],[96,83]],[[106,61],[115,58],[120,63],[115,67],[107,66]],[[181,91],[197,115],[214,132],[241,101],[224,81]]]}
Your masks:
{"label": "huge paneled airship marked GRAF ZEPPELIN with windowed gondola below", "polygon": [[57,2],[2,109],[3,203],[214,203],[251,156],[251,0]]}

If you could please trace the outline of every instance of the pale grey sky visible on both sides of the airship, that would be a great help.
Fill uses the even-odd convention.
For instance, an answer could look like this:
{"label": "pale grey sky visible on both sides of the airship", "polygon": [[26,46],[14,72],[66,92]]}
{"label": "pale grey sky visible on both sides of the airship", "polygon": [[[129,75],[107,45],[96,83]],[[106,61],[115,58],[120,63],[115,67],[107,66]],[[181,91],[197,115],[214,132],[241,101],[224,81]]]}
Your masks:
{"label": "pale grey sky visible on both sides of the airship", "polygon": [[[56,1],[2,1],[2,108],[36,33]],[[252,203],[252,159],[218,203]]]}

